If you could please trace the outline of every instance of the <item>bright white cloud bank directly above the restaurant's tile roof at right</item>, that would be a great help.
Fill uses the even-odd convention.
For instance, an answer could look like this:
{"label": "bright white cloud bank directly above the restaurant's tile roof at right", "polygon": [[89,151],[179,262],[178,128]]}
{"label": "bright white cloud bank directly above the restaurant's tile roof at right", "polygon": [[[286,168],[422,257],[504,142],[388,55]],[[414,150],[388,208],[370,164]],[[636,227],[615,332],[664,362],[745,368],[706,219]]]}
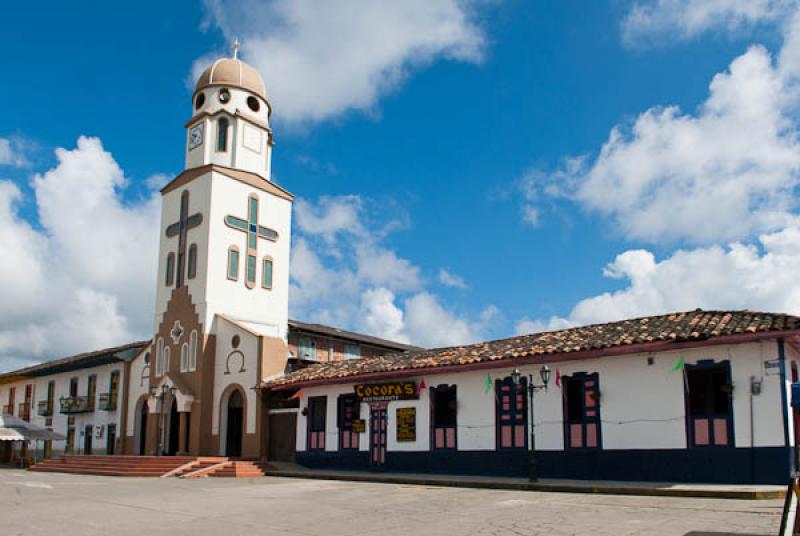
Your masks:
{"label": "bright white cloud bank directly above the restaurant's tile roof at right", "polygon": [[517,331],[560,329],[652,314],[703,309],[750,309],[800,314],[800,227],[764,234],[757,245],[734,242],[678,250],[663,260],[647,250],[625,251],[604,269],[626,281],[616,292],[578,302],[567,318],[522,321]]}

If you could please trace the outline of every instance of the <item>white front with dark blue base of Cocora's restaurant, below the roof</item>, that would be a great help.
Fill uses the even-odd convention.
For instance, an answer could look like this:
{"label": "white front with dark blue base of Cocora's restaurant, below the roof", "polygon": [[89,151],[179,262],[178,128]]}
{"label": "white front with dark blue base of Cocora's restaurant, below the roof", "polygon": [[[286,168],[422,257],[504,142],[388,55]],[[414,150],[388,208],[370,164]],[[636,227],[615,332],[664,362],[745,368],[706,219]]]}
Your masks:
{"label": "white front with dark blue base of Cocora's restaurant, below the roof", "polygon": [[[539,476],[726,483],[786,481],[795,438],[789,392],[792,374],[797,379],[800,356],[785,340],[719,345],[709,341],[701,347],[674,351],[578,360],[569,359],[568,355],[561,357],[548,357],[548,389],[537,390],[533,398],[534,454]],[[368,403],[359,404],[359,416],[366,429],[359,434],[357,450],[342,449],[337,401],[343,395],[352,396],[359,384],[400,381],[399,373],[386,380],[376,374],[365,375],[364,379],[355,376],[347,382],[339,379],[327,384],[324,380],[311,385],[290,384],[300,390],[301,398],[297,460],[316,468],[527,476],[531,456],[529,398],[525,393],[522,443],[509,444],[508,437],[504,443],[499,409],[503,405],[501,382],[508,381],[517,370],[523,378],[531,374],[540,384],[543,365],[509,361],[505,366],[493,363],[491,368],[463,372],[453,366],[451,371],[440,368],[436,373],[419,371],[402,378],[418,386],[424,382],[426,387],[419,390],[417,400],[386,404],[385,453],[377,458],[371,453],[375,448],[375,430],[371,426],[376,421],[370,415],[375,409]],[[582,373],[594,375],[597,394],[584,389],[581,396],[587,398],[580,401],[584,406],[578,411],[594,412],[593,419],[569,415],[580,404],[570,400],[571,395],[575,396],[574,391],[568,392],[568,384]],[[560,385],[556,385],[556,375]],[[702,386],[709,381],[711,392],[702,393]],[[456,388],[455,448],[437,448],[434,444],[435,403],[431,388],[437,386]],[[319,428],[319,423],[312,422],[319,418],[310,411],[309,401],[321,400],[320,397],[327,401],[324,448],[319,444],[312,447],[308,441],[309,430]],[[512,400],[516,402],[513,396]],[[720,403],[724,407],[719,407]],[[703,411],[704,404],[716,407]],[[397,410],[406,407],[416,409],[414,441],[397,438]],[[597,422],[591,434],[586,432],[592,426],[587,426],[589,420]],[[513,439],[517,439],[516,434]]]}

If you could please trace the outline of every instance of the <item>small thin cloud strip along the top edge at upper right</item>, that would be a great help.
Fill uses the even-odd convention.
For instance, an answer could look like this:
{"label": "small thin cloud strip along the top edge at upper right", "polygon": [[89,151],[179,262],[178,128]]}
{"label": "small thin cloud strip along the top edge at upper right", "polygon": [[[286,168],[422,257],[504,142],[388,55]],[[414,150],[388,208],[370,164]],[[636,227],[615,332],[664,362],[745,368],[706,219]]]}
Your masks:
{"label": "small thin cloud strip along the top edge at upper right", "polygon": [[636,2],[622,23],[625,42],[667,35],[687,39],[708,30],[738,31],[780,20],[797,0],[646,0]]}

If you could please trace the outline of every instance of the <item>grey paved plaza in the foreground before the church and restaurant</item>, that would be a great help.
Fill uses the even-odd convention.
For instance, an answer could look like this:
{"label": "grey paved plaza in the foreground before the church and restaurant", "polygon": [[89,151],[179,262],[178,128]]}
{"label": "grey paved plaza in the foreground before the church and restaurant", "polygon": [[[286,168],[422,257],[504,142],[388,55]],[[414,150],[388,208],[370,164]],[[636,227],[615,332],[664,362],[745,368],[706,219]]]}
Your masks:
{"label": "grey paved plaza in the foreground before the church and restaurant", "polygon": [[0,469],[4,535],[774,535],[782,502]]}

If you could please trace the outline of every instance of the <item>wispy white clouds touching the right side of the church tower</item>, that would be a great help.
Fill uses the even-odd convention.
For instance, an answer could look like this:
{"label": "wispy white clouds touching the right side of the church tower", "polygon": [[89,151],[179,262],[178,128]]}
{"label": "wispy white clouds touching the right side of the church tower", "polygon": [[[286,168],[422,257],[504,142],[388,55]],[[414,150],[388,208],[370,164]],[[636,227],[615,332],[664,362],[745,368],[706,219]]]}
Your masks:
{"label": "wispy white clouds touching the right side of the church tower", "polygon": [[379,225],[368,207],[356,196],[297,202],[292,316],[421,346],[482,338],[497,309],[470,317],[443,306],[425,290],[420,268],[383,245],[398,225]]}

